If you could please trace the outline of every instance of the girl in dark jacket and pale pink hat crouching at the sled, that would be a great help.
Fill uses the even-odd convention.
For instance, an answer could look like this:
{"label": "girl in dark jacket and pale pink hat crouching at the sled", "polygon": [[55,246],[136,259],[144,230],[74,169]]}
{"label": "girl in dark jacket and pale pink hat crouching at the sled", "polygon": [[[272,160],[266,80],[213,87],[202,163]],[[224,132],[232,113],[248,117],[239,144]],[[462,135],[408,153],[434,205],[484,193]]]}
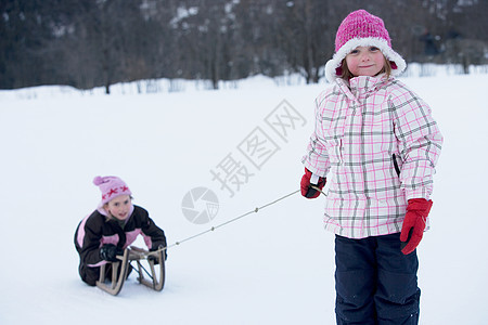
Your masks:
{"label": "girl in dark jacket and pale pink hat crouching at the sled", "polygon": [[[97,177],[93,183],[102,192],[99,207],[76,229],[75,247],[79,253],[79,276],[90,286],[100,277],[100,266],[117,261],[138,235],[150,250],[166,247],[166,237],[144,208],[132,205],[132,193],[117,177]],[[166,250],[164,250],[166,253]],[[132,270],[132,269],[130,269]],[[106,277],[112,269],[105,269]],[[130,271],[129,271],[130,272]]]}

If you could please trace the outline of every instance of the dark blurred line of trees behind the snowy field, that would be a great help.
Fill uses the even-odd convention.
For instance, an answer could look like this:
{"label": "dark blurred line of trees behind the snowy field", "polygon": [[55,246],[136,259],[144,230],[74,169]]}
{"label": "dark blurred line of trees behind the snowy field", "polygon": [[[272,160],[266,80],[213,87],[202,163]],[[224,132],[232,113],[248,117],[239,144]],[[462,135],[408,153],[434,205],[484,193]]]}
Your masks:
{"label": "dark blurred line of trees behind the snowy field", "polygon": [[323,76],[342,20],[382,17],[407,62],[488,61],[486,0],[1,0],[0,88]]}

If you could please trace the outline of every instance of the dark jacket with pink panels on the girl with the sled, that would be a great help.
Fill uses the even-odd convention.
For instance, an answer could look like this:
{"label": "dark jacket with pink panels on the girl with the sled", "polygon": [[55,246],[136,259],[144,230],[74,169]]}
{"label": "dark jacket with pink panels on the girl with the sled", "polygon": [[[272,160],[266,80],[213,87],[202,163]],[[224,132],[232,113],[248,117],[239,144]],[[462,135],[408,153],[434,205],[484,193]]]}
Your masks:
{"label": "dark jacket with pink panels on the girl with the sled", "polygon": [[104,244],[114,244],[125,249],[136,240],[139,234],[143,236],[150,249],[157,248],[159,245],[166,247],[165,233],[149,217],[144,208],[132,206],[124,230],[115,219],[106,217],[104,210],[93,211],[78,224],[75,233],[75,246],[80,257],[80,266],[94,268],[106,263],[100,258],[100,248]]}

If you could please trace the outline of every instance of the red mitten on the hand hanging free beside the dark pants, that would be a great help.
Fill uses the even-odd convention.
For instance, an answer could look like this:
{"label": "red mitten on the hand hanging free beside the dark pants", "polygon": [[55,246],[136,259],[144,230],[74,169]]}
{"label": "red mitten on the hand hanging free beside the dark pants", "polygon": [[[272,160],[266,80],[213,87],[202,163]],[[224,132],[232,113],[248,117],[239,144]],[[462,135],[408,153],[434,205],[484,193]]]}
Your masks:
{"label": "red mitten on the hand hanging free beside the dark pants", "polygon": [[409,199],[400,234],[400,240],[402,242],[401,252],[404,255],[409,255],[415,250],[422,240],[431,208],[432,200],[426,200],[425,198]]}

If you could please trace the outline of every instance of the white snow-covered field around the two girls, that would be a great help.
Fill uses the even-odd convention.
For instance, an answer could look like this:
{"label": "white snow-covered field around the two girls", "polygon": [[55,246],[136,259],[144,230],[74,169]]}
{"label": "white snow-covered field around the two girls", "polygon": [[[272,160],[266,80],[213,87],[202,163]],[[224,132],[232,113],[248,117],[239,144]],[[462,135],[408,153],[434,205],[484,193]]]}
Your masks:
{"label": "white snow-covered field around the two girls", "polygon": [[[488,75],[403,80],[445,135],[432,229],[419,249],[421,324],[488,324]],[[108,96],[1,91],[0,324],[334,324],[324,197],[294,194],[171,247],[162,292],[136,274],[117,297],[79,280],[73,235],[100,200],[95,176],[123,178],[169,244],[299,188],[313,100],[325,86],[245,84]],[[218,197],[210,222],[183,214],[195,187]]]}

